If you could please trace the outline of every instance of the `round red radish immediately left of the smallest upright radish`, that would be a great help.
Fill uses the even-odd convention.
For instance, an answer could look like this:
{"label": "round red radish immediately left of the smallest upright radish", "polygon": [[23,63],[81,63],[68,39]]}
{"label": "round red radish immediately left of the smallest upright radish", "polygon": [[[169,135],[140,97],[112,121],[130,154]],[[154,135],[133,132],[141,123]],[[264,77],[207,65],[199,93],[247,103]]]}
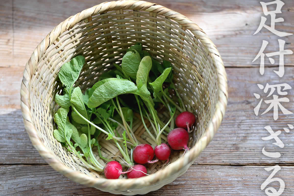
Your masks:
{"label": "round red radish immediately left of the smallest upright radish", "polygon": [[154,157],[154,150],[149,144],[140,144],[137,145],[133,152],[133,158],[136,163],[145,164],[145,163],[155,163],[151,161]]}

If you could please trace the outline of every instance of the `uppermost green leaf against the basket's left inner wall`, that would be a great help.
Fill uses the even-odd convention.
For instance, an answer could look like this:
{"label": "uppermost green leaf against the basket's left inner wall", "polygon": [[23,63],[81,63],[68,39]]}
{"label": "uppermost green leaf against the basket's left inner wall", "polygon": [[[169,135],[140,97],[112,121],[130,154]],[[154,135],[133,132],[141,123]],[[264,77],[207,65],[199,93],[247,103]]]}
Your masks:
{"label": "uppermost green leaf against the basket's left inner wall", "polygon": [[60,81],[71,88],[78,79],[84,63],[85,58],[83,56],[76,56],[70,62],[64,63],[58,73]]}

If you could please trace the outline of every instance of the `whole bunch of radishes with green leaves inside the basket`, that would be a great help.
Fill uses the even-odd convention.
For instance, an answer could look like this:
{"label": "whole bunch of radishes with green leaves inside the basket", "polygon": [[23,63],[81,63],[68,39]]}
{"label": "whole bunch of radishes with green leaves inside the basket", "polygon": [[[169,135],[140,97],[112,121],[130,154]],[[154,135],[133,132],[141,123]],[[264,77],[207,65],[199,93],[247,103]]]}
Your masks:
{"label": "whole bunch of radishes with green leaves inside the basket", "polygon": [[[114,63],[113,69],[101,73],[99,81],[82,92],[76,81],[85,64],[86,58],[76,56],[59,70],[62,91],[56,94],[55,102],[61,108],[54,114],[57,129],[53,135],[86,167],[104,172],[108,179],[117,179],[121,174],[136,178],[147,175],[144,164],[158,160],[168,163],[171,149],[183,149],[184,153],[189,150],[188,133],[195,116],[186,111],[173,83],[170,62],[157,61],[140,43],[136,44],[128,48],[121,65]],[[169,113],[167,122],[158,115],[163,107]],[[135,112],[139,117],[133,115]],[[174,119],[176,112],[180,114]],[[154,149],[149,144],[140,144],[133,132],[133,120],[140,117],[146,133],[156,144]],[[174,129],[175,124],[178,128]],[[119,127],[123,132],[118,131]],[[100,134],[105,134],[105,140],[119,150],[121,159],[130,167],[127,171],[122,170],[119,162],[102,156]],[[161,134],[167,136],[168,144],[161,142]],[[94,156],[93,147],[108,162],[105,166]]]}

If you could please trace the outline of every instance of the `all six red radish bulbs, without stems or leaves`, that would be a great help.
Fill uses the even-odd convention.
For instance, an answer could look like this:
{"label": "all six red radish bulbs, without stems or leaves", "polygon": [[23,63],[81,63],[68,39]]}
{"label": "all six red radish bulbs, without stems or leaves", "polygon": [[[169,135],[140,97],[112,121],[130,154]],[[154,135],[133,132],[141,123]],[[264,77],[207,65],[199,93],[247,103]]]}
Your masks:
{"label": "all six red radish bulbs, without stems or leaves", "polygon": [[[168,145],[161,143],[152,148],[149,144],[140,144],[134,148],[133,159],[136,165],[130,166],[126,172],[122,171],[122,166],[117,161],[108,162],[104,168],[104,175],[108,179],[117,179],[121,174],[127,173],[128,178],[138,178],[147,175],[147,169],[143,164],[156,163],[158,160],[167,161],[173,150],[189,150],[188,131],[195,123],[195,116],[191,112],[182,112],[176,118],[176,125],[178,128],[171,130],[167,135]],[[186,130],[187,129],[187,130]],[[156,160],[153,160],[154,155]]]}

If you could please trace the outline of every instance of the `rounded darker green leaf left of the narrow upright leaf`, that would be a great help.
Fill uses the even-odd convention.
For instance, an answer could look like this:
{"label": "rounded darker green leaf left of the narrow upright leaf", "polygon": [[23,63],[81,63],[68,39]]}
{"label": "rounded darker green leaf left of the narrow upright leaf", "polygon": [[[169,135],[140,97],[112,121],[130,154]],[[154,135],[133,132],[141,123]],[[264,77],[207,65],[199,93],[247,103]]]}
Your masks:
{"label": "rounded darker green leaf left of the narrow upright leaf", "polygon": [[128,51],[122,59],[121,68],[131,78],[136,78],[139,64],[141,62],[140,54],[136,50]]}

